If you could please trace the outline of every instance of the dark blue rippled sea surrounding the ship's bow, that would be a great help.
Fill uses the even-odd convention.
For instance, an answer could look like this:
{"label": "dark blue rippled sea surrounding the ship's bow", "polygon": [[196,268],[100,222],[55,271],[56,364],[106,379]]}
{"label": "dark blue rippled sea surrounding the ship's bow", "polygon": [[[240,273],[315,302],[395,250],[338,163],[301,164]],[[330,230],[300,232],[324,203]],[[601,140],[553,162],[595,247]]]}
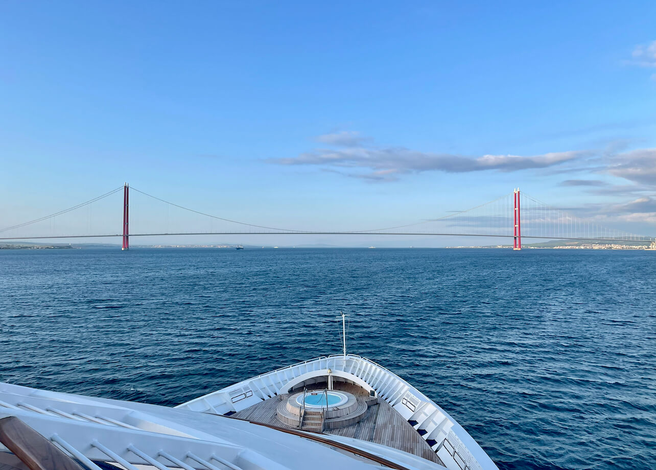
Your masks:
{"label": "dark blue rippled sea surrounding the ship's bow", "polygon": [[656,252],[0,250],[0,382],[175,405],[348,352],[500,469],[656,468]]}

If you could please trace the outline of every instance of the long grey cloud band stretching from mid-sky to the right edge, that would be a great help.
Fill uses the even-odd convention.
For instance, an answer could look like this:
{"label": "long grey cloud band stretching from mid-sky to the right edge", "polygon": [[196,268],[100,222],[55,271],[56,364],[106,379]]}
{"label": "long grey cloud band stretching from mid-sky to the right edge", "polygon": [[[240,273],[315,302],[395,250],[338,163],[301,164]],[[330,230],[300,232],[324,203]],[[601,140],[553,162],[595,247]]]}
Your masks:
{"label": "long grey cloud band stretching from mid-sky to the right edge", "polygon": [[[580,174],[560,186],[581,187],[597,195],[644,196],[656,191],[656,149],[626,150],[626,142],[604,149],[549,152],[541,155],[481,155],[426,152],[406,147],[375,146],[358,132],[324,134],[316,140],[337,148],[318,148],[297,155],[268,159],[275,165],[316,166],[348,178],[369,182],[392,182],[403,175],[421,172],[516,172],[544,169],[550,175]],[[613,184],[592,175],[623,178],[630,184]],[[586,177],[587,176],[587,177]]]}

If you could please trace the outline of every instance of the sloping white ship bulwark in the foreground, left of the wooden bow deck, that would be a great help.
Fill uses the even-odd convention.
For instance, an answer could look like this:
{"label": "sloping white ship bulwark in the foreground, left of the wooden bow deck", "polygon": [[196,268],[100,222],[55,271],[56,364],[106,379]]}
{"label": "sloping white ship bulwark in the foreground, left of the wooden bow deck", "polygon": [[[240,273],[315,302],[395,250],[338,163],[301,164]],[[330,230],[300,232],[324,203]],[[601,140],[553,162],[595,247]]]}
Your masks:
{"label": "sloping white ship bulwark in the foreground, left of the wooden bow deck", "polygon": [[[127,470],[301,470],[308,465],[317,470],[366,470],[378,464],[397,470],[437,467],[411,454],[367,452],[358,442],[331,441],[329,436],[293,429],[267,429],[271,426],[165,406],[0,383],[0,419],[9,416],[23,421],[91,470],[100,470],[96,462],[115,463]],[[0,444],[0,452],[8,451]]]}

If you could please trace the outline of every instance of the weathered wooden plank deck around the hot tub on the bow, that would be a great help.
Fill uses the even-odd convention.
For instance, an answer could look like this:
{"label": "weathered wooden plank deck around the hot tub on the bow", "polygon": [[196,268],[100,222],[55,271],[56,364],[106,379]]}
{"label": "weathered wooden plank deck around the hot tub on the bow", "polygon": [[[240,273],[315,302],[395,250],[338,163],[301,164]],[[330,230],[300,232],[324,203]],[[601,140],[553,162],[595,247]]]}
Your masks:
{"label": "weathered wooden plank deck around the hot tub on the bow", "polygon": [[[325,382],[314,383],[308,385],[308,390],[325,389],[325,387]],[[364,400],[369,397],[365,390],[352,383],[334,382],[333,388],[352,393],[359,399]],[[268,399],[233,414],[232,418],[291,428],[277,419],[276,407],[279,403],[277,399]],[[338,429],[327,429],[324,432],[383,444],[444,465],[417,430],[382,399],[379,399],[378,404],[369,406],[359,423]]]}

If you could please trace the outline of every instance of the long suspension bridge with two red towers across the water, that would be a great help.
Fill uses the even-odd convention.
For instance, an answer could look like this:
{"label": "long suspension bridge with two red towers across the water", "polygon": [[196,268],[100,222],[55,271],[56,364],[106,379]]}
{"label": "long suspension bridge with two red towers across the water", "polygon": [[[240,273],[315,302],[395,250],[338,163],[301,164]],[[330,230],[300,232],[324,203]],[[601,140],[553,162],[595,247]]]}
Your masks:
{"label": "long suspension bridge with two red towers across the water", "polygon": [[[123,224],[121,231],[111,231],[106,225],[105,212],[113,210],[102,203],[112,201],[117,193],[123,191]],[[140,201],[133,205],[130,197],[138,195]],[[114,199],[112,199],[114,196]],[[148,199],[151,205],[144,204]],[[152,208],[152,203],[159,204],[162,209]],[[100,206],[101,222],[96,226],[93,222],[93,210],[96,214]],[[134,209],[137,209],[136,220]],[[146,208],[147,207],[147,208]],[[139,208],[142,211],[139,212]],[[87,225],[83,226],[81,216],[87,212]],[[132,222],[137,223],[138,229],[131,231]],[[171,214],[174,212],[174,214]],[[171,230],[171,220],[175,219],[177,226],[184,226],[184,230]],[[191,219],[190,219],[191,217]],[[192,220],[193,219],[193,220]],[[104,221],[104,223],[102,222]],[[116,224],[115,226],[118,226]],[[512,239],[514,250],[522,249],[522,239],[543,240],[569,240],[606,243],[630,243],[636,245],[650,244],[656,249],[656,242],[649,236],[636,235],[621,229],[607,227],[599,224],[597,220],[590,220],[574,216],[559,208],[549,206],[535,199],[519,189],[503,195],[493,201],[449,213],[439,218],[430,218],[410,224],[396,225],[376,229],[354,230],[303,230],[271,227],[247,222],[239,222],[216,214],[209,214],[194,208],[178,205],[166,201],[155,195],[130,187],[127,183],[112,191],[103,193],[83,203],[71,206],[64,210],[48,214],[27,222],[10,225],[0,229],[0,241],[19,241],[37,239],[85,239],[121,237],[123,250],[129,249],[130,237],[165,237],[182,235],[424,235],[424,236],[451,236],[451,237],[501,237]]]}

